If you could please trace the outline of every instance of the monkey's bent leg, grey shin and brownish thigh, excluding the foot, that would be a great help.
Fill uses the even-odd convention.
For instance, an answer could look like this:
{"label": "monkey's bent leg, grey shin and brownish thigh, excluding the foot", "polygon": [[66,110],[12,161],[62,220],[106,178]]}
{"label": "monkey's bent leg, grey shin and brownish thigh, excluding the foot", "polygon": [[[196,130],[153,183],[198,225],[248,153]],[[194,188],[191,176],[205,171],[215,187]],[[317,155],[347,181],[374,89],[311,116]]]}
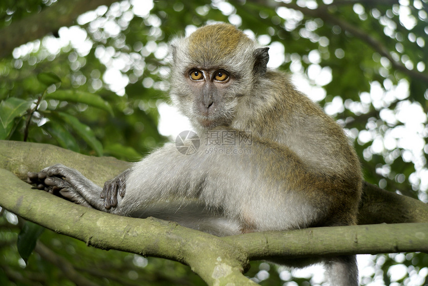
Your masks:
{"label": "monkey's bent leg, grey shin and brownish thigh, excluding the foot", "polygon": [[338,180],[330,169],[309,168],[287,146],[255,136],[250,145],[217,146],[206,139],[193,155],[166,144],[136,163],[114,211],[139,217],[151,203],[198,199],[208,209],[221,209],[242,231],[343,225],[355,219],[359,182],[351,182],[352,175]]}

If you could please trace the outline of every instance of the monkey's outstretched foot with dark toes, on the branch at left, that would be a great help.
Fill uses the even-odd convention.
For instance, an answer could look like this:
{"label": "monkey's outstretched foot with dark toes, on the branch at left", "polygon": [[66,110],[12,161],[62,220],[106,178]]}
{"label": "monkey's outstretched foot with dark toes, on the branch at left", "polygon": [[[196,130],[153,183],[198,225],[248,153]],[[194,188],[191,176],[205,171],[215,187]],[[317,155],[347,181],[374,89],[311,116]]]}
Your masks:
{"label": "monkey's outstretched foot with dark toes, on the branch at left", "polygon": [[101,187],[75,169],[57,164],[38,173],[28,172],[27,176],[27,183],[35,184],[39,190],[48,191],[83,206],[100,209],[94,194],[98,193],[99,196]]}

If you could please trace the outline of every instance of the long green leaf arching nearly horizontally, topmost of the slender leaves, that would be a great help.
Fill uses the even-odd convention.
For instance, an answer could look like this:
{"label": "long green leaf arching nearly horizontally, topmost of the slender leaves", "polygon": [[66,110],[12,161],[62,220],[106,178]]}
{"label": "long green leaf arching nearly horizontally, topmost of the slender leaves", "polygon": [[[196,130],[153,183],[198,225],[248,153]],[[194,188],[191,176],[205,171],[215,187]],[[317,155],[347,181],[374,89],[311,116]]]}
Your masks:
{"label": "long green leaf arching nearly horizontally, topmost of the slender leaves", "polygon": [[113,109],[106,100],[100,95],[91,94],[75,90],[57,90],[51,94],[45,95],[45,99],[57,99],[69,102],[85,103],[103,110],[113,115]]}

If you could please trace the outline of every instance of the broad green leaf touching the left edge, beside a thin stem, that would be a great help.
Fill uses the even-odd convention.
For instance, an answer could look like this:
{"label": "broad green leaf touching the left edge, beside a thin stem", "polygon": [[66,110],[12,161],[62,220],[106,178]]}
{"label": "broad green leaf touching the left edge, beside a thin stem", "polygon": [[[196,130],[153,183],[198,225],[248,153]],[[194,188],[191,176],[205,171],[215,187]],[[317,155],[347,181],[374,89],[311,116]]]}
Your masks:
{"label": "broad green leaf touching the left edge, beside a thin stem", "polygon": [[4,140],[13,128],[14,119],[24,115],[32,101],[10,97],[0,102],[0,140]]}

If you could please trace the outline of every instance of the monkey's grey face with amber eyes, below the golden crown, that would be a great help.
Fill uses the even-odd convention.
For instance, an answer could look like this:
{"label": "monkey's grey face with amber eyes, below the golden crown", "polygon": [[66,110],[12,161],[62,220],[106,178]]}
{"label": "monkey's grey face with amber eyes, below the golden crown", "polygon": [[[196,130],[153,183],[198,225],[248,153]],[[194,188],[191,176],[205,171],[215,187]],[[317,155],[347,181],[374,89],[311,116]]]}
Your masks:
{"label": "monkey's grey face with amber eyes, below the golden crown", "polygon": [[251,94],[254,82],[251,67],[241,64],[240,68],[196,63],[173,69],[171,96],[194,127],[211,129],[232,124],[240,99]]}

